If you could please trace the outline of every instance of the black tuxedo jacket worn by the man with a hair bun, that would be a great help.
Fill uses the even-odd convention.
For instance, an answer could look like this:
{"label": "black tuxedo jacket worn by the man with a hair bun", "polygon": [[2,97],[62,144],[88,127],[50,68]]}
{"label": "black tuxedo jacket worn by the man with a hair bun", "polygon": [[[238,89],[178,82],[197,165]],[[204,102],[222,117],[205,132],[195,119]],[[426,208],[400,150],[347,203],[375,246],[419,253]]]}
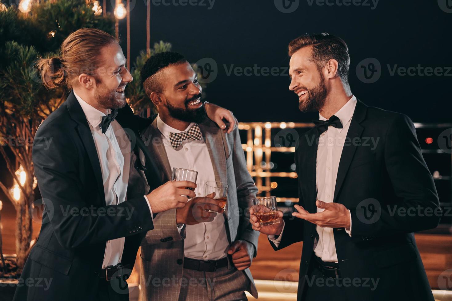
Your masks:
{"label": "black tuxedo jacket worn by the man with a hair bun", "polygon": [[[157,187],[161,181],[154,174],[149,151],[135,134],[139,118],[126,106],[116,119],[134,136],[134,151],[145,152],[148,183],[151,189]],[[39,143],[42,138],[52,139],[48,149]],[[94,139],[74,93],[42,122],[34,141],[34,172],[45,211],[21,278],[51,282],[47,290],[46,286],[18,287],[14,300],[93,300],[99,281],[105,281],[94,273],[102,268],[107,241],[126,237],[121,263],[132,269],[142,238],[154,228],[146,199],[141,195],[106,206]]]}

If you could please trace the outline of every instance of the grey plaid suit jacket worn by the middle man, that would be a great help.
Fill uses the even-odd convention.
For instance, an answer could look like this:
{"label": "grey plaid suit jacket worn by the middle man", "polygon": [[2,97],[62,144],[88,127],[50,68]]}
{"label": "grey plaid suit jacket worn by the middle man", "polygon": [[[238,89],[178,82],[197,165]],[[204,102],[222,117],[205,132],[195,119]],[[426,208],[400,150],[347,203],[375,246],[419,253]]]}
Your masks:
{"label": "grey plaid suit jacket worn by the middle man", "polygon": [[[245,213],[252,205],[252,199],[258,190],[246,169],[238,128],[235,126],[230,134],[225,134],[209,119],[199,124],[199,128],[209,148],[215,180],[227,182],[229,185],[228,210],[223,213],[228,240],[230,243],[236,240],[250,242],[254,245],[255,257],[259,232],[251,228]],[[161,140],[162,135],[157,129],[156,119],[142,136],[151,153],[155,155],[162,180],[170,181],[170,162]],[[176,209],[158,213],[153,222],[154,230],[147,232],[141,244],[141,300],[178,300],[179,281],[184,270],[185,231],[178,231]],[[247,291],[257,298],[258,293],[250,269],[244,272],[250,279]]]}

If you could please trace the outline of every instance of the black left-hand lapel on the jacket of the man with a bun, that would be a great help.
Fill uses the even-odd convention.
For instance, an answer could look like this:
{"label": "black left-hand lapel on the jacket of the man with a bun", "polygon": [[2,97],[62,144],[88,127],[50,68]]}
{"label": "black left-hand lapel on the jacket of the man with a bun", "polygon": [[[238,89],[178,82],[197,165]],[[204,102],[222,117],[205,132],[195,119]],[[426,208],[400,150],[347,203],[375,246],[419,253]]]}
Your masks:
{"label": "black left-hand lapel on the jacket of the man with a bun", "polygon": [[88,153],[89,161],[91,162],[94,176],[96,177],[99,195],[105,206],[104,181],[102,180],[102,171],[100,169],[99,156],[97,154],[96,145],[94,144],[93,134],[89,129],[85,113],[83,112],[82,107],[80,107],[77,98],[75,98],[74,92],[69,94],[66,102],[71,118],[77,122],[77,132]]}

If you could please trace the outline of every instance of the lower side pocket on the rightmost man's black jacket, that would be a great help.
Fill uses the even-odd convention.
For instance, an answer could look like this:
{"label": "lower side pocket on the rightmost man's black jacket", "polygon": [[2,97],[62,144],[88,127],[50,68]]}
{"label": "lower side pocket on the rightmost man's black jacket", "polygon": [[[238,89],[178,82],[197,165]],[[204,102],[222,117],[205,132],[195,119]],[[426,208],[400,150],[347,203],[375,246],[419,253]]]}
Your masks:
{"label": "lower side pocket on the rightmost man's black jacket", "polygon": [[393,265],[409,262],[418,257],[413,244],[398,245],[386,250],[374,252],[374,260],[380,268],[386,268]]}

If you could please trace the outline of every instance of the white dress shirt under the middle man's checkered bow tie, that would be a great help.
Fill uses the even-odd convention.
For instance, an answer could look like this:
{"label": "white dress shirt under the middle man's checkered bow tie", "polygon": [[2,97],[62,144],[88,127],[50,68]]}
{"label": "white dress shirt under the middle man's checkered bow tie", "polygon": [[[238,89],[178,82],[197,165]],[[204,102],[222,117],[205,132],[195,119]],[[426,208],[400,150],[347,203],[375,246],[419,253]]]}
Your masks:
{"label": "white dress shirt under the middle man's checkered bow tie", "polygon": [[[185,168],[198,171],[194,190],[196,196],[204,196],[207,181],[215,181],[212,160],[204,139],[184,140],[179,148],[174,149],[170,143],[170,133],[188,131],[194,123],[188,125],[184,131],[176,130],[165,124],[157,116],[157,128],[163,138],[170,167]],[[190,200],[189,200],[190,202]],[[218,260],[226,257],[229,241],[226,235],[225,219],[223,214],[217,214],[212,222],[201,222],[196,225],[185,225],[184,256],[193,259]]]}

